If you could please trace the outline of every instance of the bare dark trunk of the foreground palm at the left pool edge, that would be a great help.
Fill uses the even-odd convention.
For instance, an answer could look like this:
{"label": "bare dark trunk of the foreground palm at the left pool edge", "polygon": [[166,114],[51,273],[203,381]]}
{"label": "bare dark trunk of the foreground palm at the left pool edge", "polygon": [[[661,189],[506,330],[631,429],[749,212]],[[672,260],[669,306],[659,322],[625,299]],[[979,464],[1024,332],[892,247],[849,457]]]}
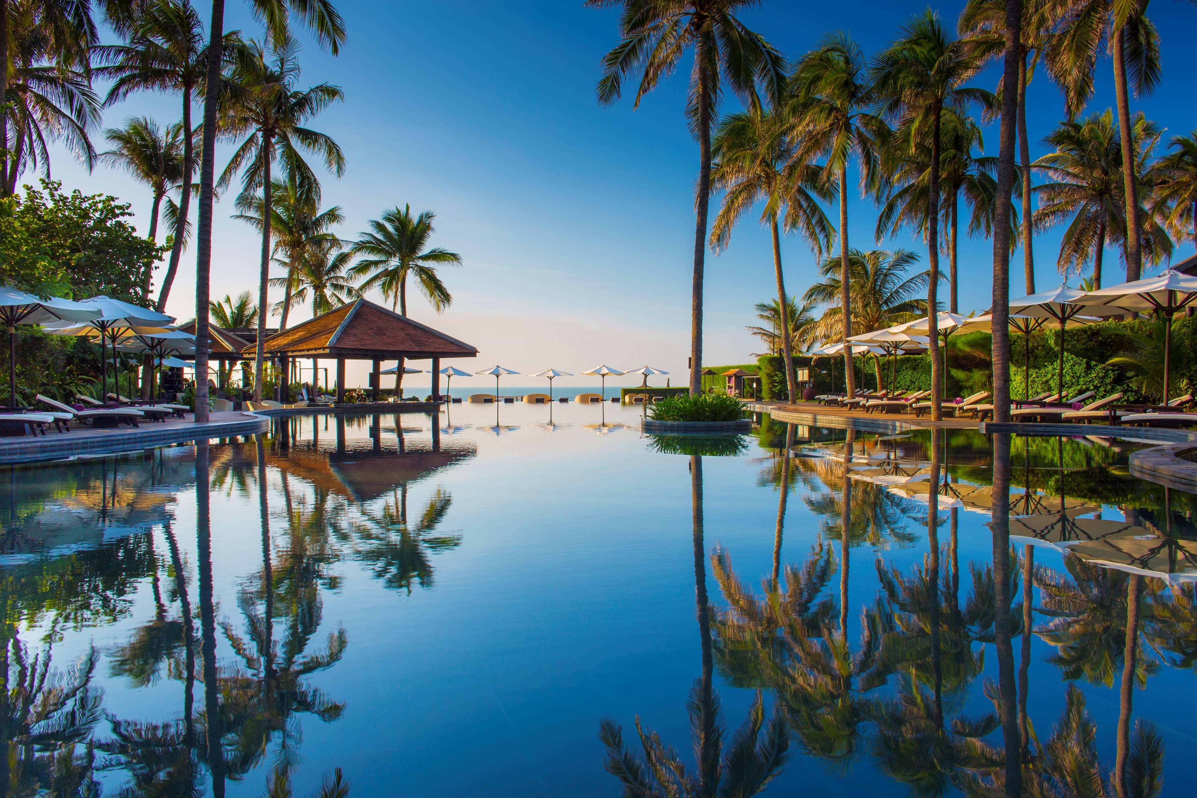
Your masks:
{"label": "bare dark trunk of the foreground palm at the left pool edge", "polygon": [[[0,0],[2,1],[2,0]],[[212,0],[203,144],[200,150],[200,219],[195,242],[195,421],[208,420],[208,293],[212,282],[212,203],[217,169],[217,105],[224,61],[224,0]],[[260,313],[265,313],[262,307]],[[223,798],[224,784],[220,785]]]}

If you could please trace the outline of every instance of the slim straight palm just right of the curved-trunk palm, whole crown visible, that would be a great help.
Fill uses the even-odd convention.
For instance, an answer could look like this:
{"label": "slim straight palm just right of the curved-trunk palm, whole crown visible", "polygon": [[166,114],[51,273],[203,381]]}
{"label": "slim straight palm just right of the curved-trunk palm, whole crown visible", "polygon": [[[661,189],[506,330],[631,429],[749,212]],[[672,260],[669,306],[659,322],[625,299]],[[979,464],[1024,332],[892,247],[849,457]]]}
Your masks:
{"label": "slim straight palm just right of the curved-trunk palm, whole crown visible", "polygon": [[[867,109],[873,104],[873,81],[868,78],[864,54],[846,33],[832,33],[819,49],[808,53],[798,62],[791,80],[797,133],[802,145],[796,151],[798,163],[818,156],[826,158],[822,165],[825,183],[836,183],[839,194],[839,261],[840,307],[847,309],[843,317],[840,340],[851,335],[851,267],[847,246],[847,163],[856,158],[861,171],[861,185],[873,178],[876,165],[876,139],[885,132],[885,123]],[[827,339],[831,340],[831,339]],[[844,373],[847,376],[849,397],[855,395],[856,378],[852,373],[851,349],[844,349]]]}

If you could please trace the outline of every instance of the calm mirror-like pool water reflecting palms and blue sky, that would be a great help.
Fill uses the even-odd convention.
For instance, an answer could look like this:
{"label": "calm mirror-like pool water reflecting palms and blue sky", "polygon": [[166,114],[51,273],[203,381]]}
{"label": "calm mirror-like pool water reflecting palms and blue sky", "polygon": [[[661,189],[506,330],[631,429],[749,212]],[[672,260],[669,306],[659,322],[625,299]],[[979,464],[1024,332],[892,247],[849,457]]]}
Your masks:
{"label": "calm mirror-like pool water reflecting palms and blue sky", "polygon": [[1197,502],[1138,444],[638,419],[458,404],[0,471],[0,784],[618,796],[638,718],[767,794],[1002,794],[1023,735],[1052,794],[1191,792]]}

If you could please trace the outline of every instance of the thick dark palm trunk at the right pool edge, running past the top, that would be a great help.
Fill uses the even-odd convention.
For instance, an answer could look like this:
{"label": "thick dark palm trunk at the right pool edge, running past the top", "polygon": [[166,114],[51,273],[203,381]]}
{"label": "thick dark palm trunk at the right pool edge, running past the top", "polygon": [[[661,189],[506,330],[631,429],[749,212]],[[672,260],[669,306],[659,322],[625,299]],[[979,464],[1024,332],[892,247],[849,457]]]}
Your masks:
{"label": "thick dark palm trunk at the right pool edge, running past the top", "polygon": [[[1022,61],[1022,0],[1005,0],[1005,57],[1002,80],[1013,86],[1019,81]],[[990,361],[994,373],[994,420],[1010,420],[1010,225],[1002,224],[1004,207],[1014,190],[1014,148],[1017,145],[1017,92],[1002,96],[1002,122],[997,152],[998,211],[994,217],[994,290],[992,345]],[[1023,179],[1023,190],[1026,190]],[[1029,237],[1027,239],[1029,246]],[[1031,273],[1031,279],[1034,274]],[[1028,284],[1029,285],[1029,284]]]}

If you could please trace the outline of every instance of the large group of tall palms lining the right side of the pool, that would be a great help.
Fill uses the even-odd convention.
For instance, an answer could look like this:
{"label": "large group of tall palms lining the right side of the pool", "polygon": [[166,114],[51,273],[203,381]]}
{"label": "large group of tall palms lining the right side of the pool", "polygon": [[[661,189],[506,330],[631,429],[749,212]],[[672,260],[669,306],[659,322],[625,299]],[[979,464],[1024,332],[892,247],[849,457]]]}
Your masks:
{"label": "large group of tall palms lining the right side of the pool", "polygon": [[[1157,263],[1171,255],[1172,238],[1197,240],[1197,135],[1175,138],[1172,151],[1155,159],[1160,130],[1130,111],[1129,95],[1149,92],[1160,78],[1159,37],[1146,2],[970,0],[958,35],[926,11],[871,59],[846,35],[833,33],[794,63],[736,16],[753,5],[747,0],[590,0],[589,5],[619,6],[622,12],[622,38],[602,62],[601,102],[618,99],[624,80],[636,75],[639,104],[687,50],[693,51],[687,118],[700,151],[691,343],[694,391],[700,389],[705,249],[727,246],[736,221],[755,207],[761,207],[761,221],[771,229],[777,279],[778,318],[766,340],[776,341],[771,348],[786,359],[791,396],[792,351],[800,342],[774,333],[809,325],[789,321],[791,310],[803,309],[794,307],[785,292],[782,232],[797,232],[820,260],[838,249],[838,282],[813,290],[815,301],[832,305],[818,324],[819,339],[844,340],[875,329],[865,327],[855,307],[868,301],[868,292],[855,286],[857,254],[847,234],[850,166],[862,194],[879,205],[877,239],[910,229],[928,244],[928,269],[913,278],[925,300],[917,309],[909,306],[910,312],[941,307],[941,251],[948,260],[947,305],[956,310],[961,199],[968,214],[966,234],[982,233],[995,243],[995,307],[1008,300],[1009,257],[1019,245],[1026,291],[1035,292],[1032,238],[1045,227],[1068,224],[1059,268],[1067,273],[1093,262],[1095,281],[1106,244],[1120,246],[1128,279],[1136,280],[1144,260]],[[1094,93],[1094,72],[1106,53],[1113,61],[1116,110],[1077,118]],[[999,61],[1002,79],[992,91],[971,85]],[[1039,65],[1062,89],[1068,121],[1046,139],[1053,152],[1032,163],[1026,93]],[[721,120],[718,102],[727,87],[746,110]],[[997,116],[999,153],[986,157],[982,123]],[[1033,171],[1045,178],[1038,185]],[[712,190],[723,196],[707,236]],[[838,220],[824,208],[830,201],[838,201]],[[824,262],[827,278],[830,262]],[[899,301],[911,299],[904,294]],[[943,374],[935,357],[934,322],[930,347],[932,389],[938,391]],[[1004,328],[995,334],[994,354],[996,392],[1002,392],[998,383],[1008,382],[1009,359]],[[845,373],[852,392],[852,370]]]}

